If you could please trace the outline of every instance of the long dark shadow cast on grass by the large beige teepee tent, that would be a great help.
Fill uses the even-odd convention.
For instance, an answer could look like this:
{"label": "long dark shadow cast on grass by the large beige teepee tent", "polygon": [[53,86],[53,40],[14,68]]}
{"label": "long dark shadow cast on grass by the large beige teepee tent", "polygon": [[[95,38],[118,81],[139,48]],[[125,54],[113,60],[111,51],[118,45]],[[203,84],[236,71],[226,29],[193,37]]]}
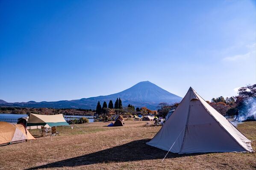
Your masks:
{"label": "long dark shadow cast on grass by the large beige teepee tent", "polygon": [[[27,170],[34,170],[40,168],[57,168],[57,167],[75,167],[88,164],[108,163],[108,162],[126,162],[126,161],[141,161],[151,159],[163,159],[167,151],[151,147],[146,144],[150,139],[142,139],[132,141],[127,144],[112,147],[106,150],[100,150],[98,152],[89,153],[87,155],[78,156],[62,161],[56,161],[53,163],[41,165],[38,167],[32,167]],[[56,153],[57,154],[57,153]],[[168,153],[166,158],[176,158],[183,156],[191,156],[199,154],[177,154]]]}

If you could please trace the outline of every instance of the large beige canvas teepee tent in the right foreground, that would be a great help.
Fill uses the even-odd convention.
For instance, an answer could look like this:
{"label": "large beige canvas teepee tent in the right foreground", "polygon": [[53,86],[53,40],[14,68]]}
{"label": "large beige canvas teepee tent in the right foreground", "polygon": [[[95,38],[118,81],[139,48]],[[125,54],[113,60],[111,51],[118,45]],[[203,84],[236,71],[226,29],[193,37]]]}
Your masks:
{"label": "large beige canvas teepee tent in the right foreground", "polygon": [[172,153],[253,152],[250,140],[192,88],[147,144]]}

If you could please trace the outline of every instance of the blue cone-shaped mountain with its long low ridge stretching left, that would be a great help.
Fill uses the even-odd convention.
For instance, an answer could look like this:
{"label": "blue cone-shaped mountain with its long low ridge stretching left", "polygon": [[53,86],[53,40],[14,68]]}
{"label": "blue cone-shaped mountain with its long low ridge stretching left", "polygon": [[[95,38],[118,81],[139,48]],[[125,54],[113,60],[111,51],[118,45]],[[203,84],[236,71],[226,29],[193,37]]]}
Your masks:
{"label": "blue cone-shaped mountain with its long low ridge stretching left", "polygon": [[[110,94],[107,96],[97,96],[82,98],[78,100],[61,100],[57,102],[15,102],[15,103],[4,103],[5,101],[0,100],[0,105],[19,106],[19,107],[34,107],[34,108],[82,108],[82,109],[95,109],[97,102],[100,101],[103,104],[104,101],[107,103],[109,100],[115,102],[117,98],[121,98],[123,106],[128,104],[134,105],[135,107],[147,107],[151,110],[155,110],[160,102],[167,102],[169,104],[174,102],[180,102],[181,97],[172,94],[159,86],[149,82],[139,82],[136,85],[121,91],[116,94]],[[3,102],[2,102],[3,101]]]}

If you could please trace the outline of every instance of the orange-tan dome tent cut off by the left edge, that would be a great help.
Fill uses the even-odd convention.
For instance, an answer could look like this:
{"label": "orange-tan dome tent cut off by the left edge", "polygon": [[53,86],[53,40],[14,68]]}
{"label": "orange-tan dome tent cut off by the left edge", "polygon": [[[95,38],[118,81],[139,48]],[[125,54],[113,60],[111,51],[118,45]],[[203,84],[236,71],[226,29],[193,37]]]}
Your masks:
{"label": "orange-tan dome tent cut off by the left edge", "polygon": [[35,138],[26,130],[23,124],[10,124],[0,122],[0,144],[34,140]]}

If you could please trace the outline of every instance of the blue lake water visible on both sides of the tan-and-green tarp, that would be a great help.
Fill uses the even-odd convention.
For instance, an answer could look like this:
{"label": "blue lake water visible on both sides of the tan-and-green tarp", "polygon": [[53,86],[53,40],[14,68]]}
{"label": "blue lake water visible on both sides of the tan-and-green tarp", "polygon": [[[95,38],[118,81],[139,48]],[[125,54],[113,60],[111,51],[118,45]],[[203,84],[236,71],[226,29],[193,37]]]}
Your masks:
{"label": "blue lake water visible on both sides of the tan-and-green tarp", "polygon": [[[28,116],[27,114],[9,114],[9,113],[0,113],[0,121],[2,122],[10,122],[10,123],[15,123],[18,122],[18,119],[21,117]],[[64,115],[65,120],[69,119],[79,119],[81,117],[86,117],[88,118],[89,122],[94,121],[94,116],[73,116],[73,115]]]}

